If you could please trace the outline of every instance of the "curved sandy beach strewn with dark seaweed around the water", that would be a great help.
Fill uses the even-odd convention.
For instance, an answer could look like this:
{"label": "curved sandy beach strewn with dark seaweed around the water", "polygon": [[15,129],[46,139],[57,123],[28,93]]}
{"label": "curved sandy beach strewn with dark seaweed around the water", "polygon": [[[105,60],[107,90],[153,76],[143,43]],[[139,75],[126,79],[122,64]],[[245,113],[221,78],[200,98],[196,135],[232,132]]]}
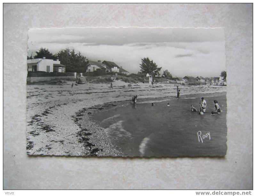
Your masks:
{"label": "curved sandy beach strewn with dark seaweed around the water", "polygon": [[[171,101],[177,84],[113,82],[110,84],[27,85],[27,154],[56,156],[123,156],[104,128],[90,119],[93,111],[101,111],[122,103],[132,103],[139,94],[143,101]],[[226,92],[226,86],[181,86],[181,98],[193,94]],[[157,98],[157,99],[156,99]],[[111,103],[110,103],[111,102]],[[109,104],[108,104],[109,103]],[[103,106],[102,106],[103,105]]]}

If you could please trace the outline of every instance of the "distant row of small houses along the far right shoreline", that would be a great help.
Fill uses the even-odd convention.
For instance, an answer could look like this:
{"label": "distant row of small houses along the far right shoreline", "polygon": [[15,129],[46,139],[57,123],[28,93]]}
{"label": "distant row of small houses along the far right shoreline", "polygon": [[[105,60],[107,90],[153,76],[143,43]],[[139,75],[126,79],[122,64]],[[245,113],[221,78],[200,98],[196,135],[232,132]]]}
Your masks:
{"label": "distant row of small houses along the far right shoreline", "polygon": [[215,84],[215,85],[226,83],[226,79],[222,79],[221,77],[205,77],[204,78],[202,76],[197,76],[197,77],[184,76],[183,78],[175,77],[174,80],[177,81],[177,83],[188,83],[193,81],[198,81],[205,84]]}

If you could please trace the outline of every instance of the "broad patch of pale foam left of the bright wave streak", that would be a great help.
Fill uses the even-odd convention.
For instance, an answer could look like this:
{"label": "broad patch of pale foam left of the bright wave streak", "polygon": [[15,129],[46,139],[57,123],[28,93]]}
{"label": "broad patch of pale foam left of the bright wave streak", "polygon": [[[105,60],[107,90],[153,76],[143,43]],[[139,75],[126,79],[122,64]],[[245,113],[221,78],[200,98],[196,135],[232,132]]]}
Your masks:
{"label": "broad patch of pale foam left of the bright wave streak", "polygon": [[115,139],[132,138],[132,134],[124,129],[122,122],[123,120],[119,120],[105,128],[105,131]]}

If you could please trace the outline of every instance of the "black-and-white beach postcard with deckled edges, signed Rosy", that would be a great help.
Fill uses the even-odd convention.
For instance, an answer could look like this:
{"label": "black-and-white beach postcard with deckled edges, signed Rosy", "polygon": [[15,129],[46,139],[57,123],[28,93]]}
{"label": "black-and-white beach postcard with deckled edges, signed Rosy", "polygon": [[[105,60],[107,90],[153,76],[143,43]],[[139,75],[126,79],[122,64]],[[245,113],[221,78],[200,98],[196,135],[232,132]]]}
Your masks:
{"label": "black-and-white beach postcard with deckled edges, signed Rosy", "polygon": [[223,28],[29,29],[27,154],[225,156]]}

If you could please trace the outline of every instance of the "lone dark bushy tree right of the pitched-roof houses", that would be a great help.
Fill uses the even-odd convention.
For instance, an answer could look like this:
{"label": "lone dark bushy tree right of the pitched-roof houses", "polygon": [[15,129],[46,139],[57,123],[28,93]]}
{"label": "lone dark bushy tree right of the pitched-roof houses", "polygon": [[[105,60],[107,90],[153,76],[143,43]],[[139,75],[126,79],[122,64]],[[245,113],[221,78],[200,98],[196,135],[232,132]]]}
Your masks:
{"label": "lone dark bushy tree right of the pitched-roof houses", "polygon": [[147,58],[141,59],[140,64],[140,72],[145,74],[150,74],[151,76],[156,76],[156,74],[159,73],[159,71],[162,69],[162,67],[157,67],[157,64],[153,62],[153,60],[150,60]]}

